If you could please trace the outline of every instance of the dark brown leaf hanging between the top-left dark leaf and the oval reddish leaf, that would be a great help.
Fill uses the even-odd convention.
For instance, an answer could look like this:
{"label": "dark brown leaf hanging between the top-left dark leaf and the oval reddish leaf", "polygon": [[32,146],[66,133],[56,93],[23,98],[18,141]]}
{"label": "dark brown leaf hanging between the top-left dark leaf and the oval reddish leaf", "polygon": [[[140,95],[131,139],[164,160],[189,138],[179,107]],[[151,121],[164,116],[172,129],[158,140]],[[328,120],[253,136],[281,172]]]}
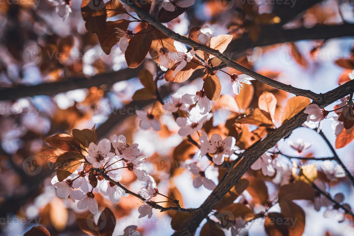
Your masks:
{"label": "dark brown leaf hanging between the top-left dark leaf and the oval reddish leaf", "polygon": [[[111,0],[113,1],[113,0]],[[117,0],[117,2],[119,2]],[[128,29],[129,21],[121,19],[119,21],[107,21],[105,30],[102,34],[98,35],[99,45],[105,54],[109,54],[112,47],[118,44],[120,37],[118,37],[117,29],[120,28],[124,31]]]}

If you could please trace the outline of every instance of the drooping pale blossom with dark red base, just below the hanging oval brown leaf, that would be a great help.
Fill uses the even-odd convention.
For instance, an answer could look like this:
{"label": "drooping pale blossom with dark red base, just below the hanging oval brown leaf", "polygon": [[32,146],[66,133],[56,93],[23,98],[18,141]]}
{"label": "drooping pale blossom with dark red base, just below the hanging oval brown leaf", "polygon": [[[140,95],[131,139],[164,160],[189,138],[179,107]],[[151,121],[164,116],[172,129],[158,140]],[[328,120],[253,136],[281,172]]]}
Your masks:
{"label": "drooping pale blossom with dark red base, just below the hanging oval brown leaf", "polygon": [[202,90],[196,92],[195,95],[189,93],[184,94],[182,96],[182,102],[189,105],[196,104],[195,109],[197,109],[201,115],[205,115],[211,110],[210,100]]}

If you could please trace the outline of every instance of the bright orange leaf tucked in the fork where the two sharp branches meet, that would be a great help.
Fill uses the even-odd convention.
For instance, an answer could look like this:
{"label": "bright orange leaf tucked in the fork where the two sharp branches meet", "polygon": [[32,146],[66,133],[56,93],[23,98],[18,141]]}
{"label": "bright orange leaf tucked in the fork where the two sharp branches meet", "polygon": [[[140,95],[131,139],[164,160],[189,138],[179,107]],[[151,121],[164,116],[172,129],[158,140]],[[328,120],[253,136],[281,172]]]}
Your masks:
{"label": "bright orange leaf tucked in the fork where the two sharp branches meet", "polygon": [[295,116],[302,109],[306,108],[311,103],[310,99],[307,97],[297,96],[292,97],[286,101],[280,115],[280,121],[283,124],[284,121],[290,120],[291,117]]}

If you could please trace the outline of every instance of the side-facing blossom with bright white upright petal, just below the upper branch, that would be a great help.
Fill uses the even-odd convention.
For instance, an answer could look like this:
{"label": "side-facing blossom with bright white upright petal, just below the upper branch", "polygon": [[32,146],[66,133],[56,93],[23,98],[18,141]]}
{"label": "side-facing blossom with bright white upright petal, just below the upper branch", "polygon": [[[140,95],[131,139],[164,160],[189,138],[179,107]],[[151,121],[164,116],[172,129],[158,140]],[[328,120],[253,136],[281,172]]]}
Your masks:
{"label": "side-facing blossom with bright white upright petal, just below the upper branch", "polygon": [[190,62],[190,60],[193,59],[195,51],[192,49],[188,52],[184,44],[178,41],[174,41],[173,45],[175,45],[177,53],[169,52],[169,58],[175,61],[175,65],[177,65],[175,71],[173,71],[172,74],[172,77],[175,77],[177,73],[181,71],[185,67],[185,65],[187,65],[187,62]]}

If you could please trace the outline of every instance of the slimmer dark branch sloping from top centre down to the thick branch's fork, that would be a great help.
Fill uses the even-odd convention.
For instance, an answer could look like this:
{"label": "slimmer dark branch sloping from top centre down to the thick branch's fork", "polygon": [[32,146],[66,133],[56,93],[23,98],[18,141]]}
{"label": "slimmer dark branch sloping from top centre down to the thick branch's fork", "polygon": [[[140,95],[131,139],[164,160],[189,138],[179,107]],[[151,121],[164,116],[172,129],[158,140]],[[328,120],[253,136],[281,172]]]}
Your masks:
{"label": "slimmer dark branch sloping from top centre down to the thick branch's fork", "polygon": [[210,47],[207,47],[205,45],[202,45],[202,44],[199,44],[185,36],[182,36],[182,35],[179,35],[177,33],[175,33],[174,31],[170,30],[169,28],[165,27],[164,25],[162,25],[160,22],[156,21],[154,18],[152,18],[149,13],[145,12],[143,10],[143,8],[140,8],[138,7],[137,5],[135,5],[132,1],[128,1],[128,0],[121,0],[122,2],[126,3],[127,5],[129,5],[138,15],[139,17],[152,24],[155,28],[159,29],[162,33],[164,33],[165,35],[169,36],[170,38],[174,39],[174,40],[177,40],[179,42],[182,42],[184,44],[188,44],[190,46],[192,46],[194,48],[194,50],[202,50],[204,52],[207,52],[207,53],[210,53],[212,54],[213,56],[216,56],[218,57],[219,59],[221,59],[228,67],[232,67],[236,70],[239,70],[241,71],[242,73],[245,73],[253,78],[255,78],[256,80],[264,83],[264,84],[267,84],[267,85],[270,85],[272,87],[275,87],[275,88],[278,88],[280,90],[284,90],[286,92],[290,92],[290,93],[293,93],[295,94],[296,96],[306,96],[310,99],[313,99],[314,101],[316,102],[319,102],[319,103],[322,103],[322,97],[317,94],[317,93],[314,93],[310,90],[303,90],[303,89],[300,89],[300,88],[295,88],[291,85],[286,85],[286,84],[283,84],[279,81],[276,81],[276,80],[272,80],[270,79],[269,77],[267,76],[264,76],[264,75],[261,75],[261,74],[258,74],[256,73],[255,71],[247,68],[247,67],[244,67],[236,62],[234,62],[232,59],[228,58],[227,56],[225,56],[224,54],[220,53],[219,51],[217,50],[214,50]]}

